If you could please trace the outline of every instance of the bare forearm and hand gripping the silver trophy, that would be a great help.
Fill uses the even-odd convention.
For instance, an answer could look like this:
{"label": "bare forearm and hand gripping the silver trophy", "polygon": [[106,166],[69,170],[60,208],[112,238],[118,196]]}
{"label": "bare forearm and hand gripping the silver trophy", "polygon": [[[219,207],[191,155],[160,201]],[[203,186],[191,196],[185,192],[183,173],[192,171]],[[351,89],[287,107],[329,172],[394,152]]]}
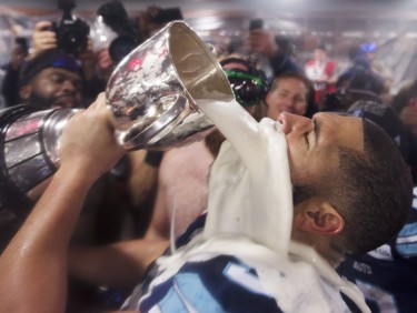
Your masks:
{"label": "bare forearm and hand gripping the silver trophy", "polygon": [[0,312],[64,312],[67,254],[89,188],[122,155],[105,95],[69,121],[60,168],[0,258]]}

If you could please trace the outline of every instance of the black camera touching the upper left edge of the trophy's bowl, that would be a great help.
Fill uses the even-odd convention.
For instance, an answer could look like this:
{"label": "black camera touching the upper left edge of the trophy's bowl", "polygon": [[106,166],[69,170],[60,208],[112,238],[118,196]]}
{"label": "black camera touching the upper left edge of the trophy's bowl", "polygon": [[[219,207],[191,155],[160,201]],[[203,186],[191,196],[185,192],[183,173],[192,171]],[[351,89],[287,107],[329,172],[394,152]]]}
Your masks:
{"label": "black camera touching the upper left edge of the trophy's bowl", "polygon": [[123,4],[119,0],[102,4],[97,10],[97,14],[102,17],[105,23],[118,36],[109,46],[109,54],[115,63],[121,61],[143,41],[135,21],[129,19]]}

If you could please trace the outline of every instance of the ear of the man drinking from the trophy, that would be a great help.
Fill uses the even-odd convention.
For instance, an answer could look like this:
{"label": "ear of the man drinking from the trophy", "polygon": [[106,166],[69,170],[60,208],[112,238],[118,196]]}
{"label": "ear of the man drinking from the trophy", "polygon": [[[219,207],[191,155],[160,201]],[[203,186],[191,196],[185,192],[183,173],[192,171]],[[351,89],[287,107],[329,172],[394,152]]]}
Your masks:
{"label": "ear of the man drinking from the trophy", "polygon": [[307,233],[335,235],[345,228],[345,220],[326,200],[311,198],[295,208],[294,225]]}

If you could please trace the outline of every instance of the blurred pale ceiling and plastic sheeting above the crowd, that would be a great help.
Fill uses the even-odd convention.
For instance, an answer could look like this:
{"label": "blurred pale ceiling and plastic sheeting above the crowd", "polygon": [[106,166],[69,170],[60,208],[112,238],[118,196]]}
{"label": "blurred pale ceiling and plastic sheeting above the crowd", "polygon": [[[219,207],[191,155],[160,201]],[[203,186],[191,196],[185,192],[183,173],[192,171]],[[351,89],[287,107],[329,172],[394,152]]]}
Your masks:
{"label": "blurred pale ceiling and plastic sheeting above the crowd", "polygon": [[[85,19],[93,31],[97,10],[107,1],[78,0],[72,14]],[[183,20],[217,49],[240,41],[251,19],[289,40],[301,63],[311,57],[318,42],[339,63],[348,62],[355,44],[377,47],[376,58],[395,78],[396,84],[413,78],[417,69],[416,0],[122,0],[135,18],[150,6],[179,8]],[[3,0],[0,4],[0,62],[10,59],[16,37],[30,40],[40,20],[59,20],[62,11],[56,0]],[[30,42],[29,42],[30,44]]]}

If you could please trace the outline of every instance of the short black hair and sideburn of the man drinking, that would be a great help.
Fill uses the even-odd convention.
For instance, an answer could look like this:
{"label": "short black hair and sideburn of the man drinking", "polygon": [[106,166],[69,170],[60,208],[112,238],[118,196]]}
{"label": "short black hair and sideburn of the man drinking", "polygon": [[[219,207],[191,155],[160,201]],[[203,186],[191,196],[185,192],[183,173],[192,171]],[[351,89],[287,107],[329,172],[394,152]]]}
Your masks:
{"label": "short black hair and sideburn of the man drinking", "polygon": [[363,254],[388,242],[404,225],[413,201],[413,179],[388,134],[363,119],[365,151],[339,150],[339,166],[319,181],[295,186],[295,203],[326,199],[344,218],[344,231],[331,245]]}

